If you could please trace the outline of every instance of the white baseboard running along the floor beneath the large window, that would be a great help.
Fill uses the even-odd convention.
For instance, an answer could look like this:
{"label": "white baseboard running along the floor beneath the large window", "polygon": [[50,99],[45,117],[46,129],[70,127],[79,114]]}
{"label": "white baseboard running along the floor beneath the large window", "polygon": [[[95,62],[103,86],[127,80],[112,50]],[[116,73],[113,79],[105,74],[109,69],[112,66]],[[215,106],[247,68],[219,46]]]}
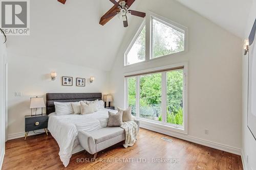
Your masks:
{"label": "white baseboard running along the floor beneath the large window", "polygon": [[210,148],[214,148],[217,150],[221,150],[221,151],[225,151],[225,152],[229,152],[232,154],[236,154],[236,155],[241,155],[241,149],[238,148],[233,148],[230,147],[228,145],[224,145],[224,144],[220,144],[220,143],[216,143],[216,142],[212,142],[212,141],[208,141],[208,140],[204,140],[204,139],[199,139],[193,136],[189,136],[189,135],[185,135],[185,134],[181,134],[181,133],[176,133],[176,132],[172,132],[166,129],[162,129],[156,126],[151,126],[148,124],[143,124],[142,122],[140,122],[140,127],[144,128],[144,129],[148,129],[151,131],[155,131],[155,132],[159,132],[165,135],[169,135],[169,136],[173,136],[179,139],[183,139],[183,140],[187,140],[193,143],[197,143],[197,144],[201,144],[204,145],[206,147],[210,147]]}

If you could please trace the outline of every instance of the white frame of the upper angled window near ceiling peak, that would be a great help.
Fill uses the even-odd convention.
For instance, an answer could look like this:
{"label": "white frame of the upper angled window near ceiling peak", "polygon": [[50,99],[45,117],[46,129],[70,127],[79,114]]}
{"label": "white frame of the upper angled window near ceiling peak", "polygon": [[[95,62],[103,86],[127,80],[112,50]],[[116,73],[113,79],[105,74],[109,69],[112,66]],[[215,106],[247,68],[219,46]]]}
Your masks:
{"label": "white frame of the upper angled window near ceiling peak", "polygon": [[[155,18],[157,21],[160,21],[162,23],[164,23],[165,25],[176,29],[178,31],[184,32],[184,51],[178,52],[178,53],[173,53],[173,54],[169,54],[169,55],[165,55],[165,56],[161,56],[161,57],[157,57],[157,58],[152,58],[153,56],[153,43],[152,43],[152,36],[153,36],[153,28],[152,28],[152,18]],[[130,52],[133,44],[135,43],[135,41],[137,40],[140,32],[142,31],[142,29],[144,28],[146,29],[146,34],[145,34],[145,60],[138,62],[138,63],[134,63],[134,64],[127,64],[127,54]],[[187,49],[188,49],[188,43],[187,43],[187,36],[188,36],[188,29],[187,27],[180,25],[179,23],[172,21],[170,19],[167,19],[165,17],[162,17],[158,14],[155,14],[151,11],[147,11],[147,15],[146,17],[143,19],[138,31],[136,32],[136,34],[134,35],[134,37],[132,38],[132,40],[130,41],[128,47],[126,48],[125,52],[124,52],[124,65],[123,67],[129,67],[129,66],[135,66],[135,65],[140,65],[140,64],[145,64],[147,62],[152,62],[152,61],[156,61],[156,60],[162,60],[164,58],[168,58],[168,57],[172,57],[172,56],[177,56],[177,55],[181,55],[181,54],[185,54],[187,53]]]}

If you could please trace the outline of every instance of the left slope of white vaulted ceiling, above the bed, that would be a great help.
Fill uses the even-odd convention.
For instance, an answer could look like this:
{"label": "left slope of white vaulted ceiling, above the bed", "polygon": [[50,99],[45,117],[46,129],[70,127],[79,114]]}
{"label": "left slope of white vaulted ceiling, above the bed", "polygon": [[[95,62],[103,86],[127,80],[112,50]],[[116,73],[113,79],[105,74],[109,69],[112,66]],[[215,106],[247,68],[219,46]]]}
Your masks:
{"label": "left slope of white vaulted ceiling, above the bed", "polygon": [[107,0],[30,1],[30,36],[8,36],[9,56],[110,70],[125,33],[118,17],[99,25],[112,6]]}

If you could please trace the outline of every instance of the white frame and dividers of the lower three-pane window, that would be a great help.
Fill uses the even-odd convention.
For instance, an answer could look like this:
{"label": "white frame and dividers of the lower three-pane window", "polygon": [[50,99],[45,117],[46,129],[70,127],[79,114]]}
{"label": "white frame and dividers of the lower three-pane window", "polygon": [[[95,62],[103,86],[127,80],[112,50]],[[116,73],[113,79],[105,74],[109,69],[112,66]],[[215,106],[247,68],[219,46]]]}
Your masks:
{"label": "white frame and dividers of the lower three-pane window", "polygon": [[[183,68],[183,126],[174,125],[166,122],[166,88],[167,88],[167,75],[166,73],[169,71],[162,71],[162,121],[156,121],[151,119],[146,119],[143,117],[140,117],[139,115],[139,101],[140,101],[140,76],[132,76],[132,77],[125,77],[129,75],[135,75],[135,74],[143,74],[143,72],[150,72],[150,71],[157,71],[162,69],[171,69],[175,67],[184,66]],[[180,70],[180,69],[177,69]],[[146,75],[146,74],[145,74]],[[124,94],[124,104],[125,107],[128,107],[129,99],[128,99],[128,87],[127,87],[127,79],[136,77],[136,119],[140,120],[141,123],[147,125],[147,126],[153,126],[157,128],[162,128],[165,130],[175,131],[183,134],[187,134],[187,63],[179,63],[174,65],[168,65],[164,67],[157,67],[153,69],[147,69],[147,70],[140,70],[136,72],[129,72],[127,74],[124,74],[124,81],[125,81],[125,94]]]}

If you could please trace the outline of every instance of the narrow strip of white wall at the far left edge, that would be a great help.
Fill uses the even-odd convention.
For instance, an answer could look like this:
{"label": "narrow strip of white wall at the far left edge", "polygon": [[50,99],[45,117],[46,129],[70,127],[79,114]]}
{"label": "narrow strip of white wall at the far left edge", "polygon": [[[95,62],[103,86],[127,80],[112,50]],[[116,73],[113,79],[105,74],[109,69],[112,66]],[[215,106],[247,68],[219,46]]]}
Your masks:
{"label": "narrow strip of white wall at the far left edge", "polygon": [[6,45],[4,38],[0,34],[0,169],[3,164],[5,154],[5,63]]}

